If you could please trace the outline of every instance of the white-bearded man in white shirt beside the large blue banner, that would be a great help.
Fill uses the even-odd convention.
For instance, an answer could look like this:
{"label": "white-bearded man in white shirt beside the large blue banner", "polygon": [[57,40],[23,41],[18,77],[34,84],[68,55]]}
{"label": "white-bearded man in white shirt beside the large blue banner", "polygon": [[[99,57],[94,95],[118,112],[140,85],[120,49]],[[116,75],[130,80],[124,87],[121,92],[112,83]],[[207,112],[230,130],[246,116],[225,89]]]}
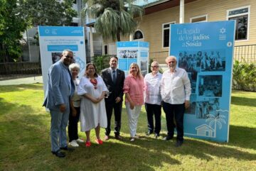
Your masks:
{"label": "white-bearded man in white shirt beside the large blue banner", "polygon": [[160,85],[168,131],[168,135],[164,140],[174,138],[175,118],[177,130],[176,147],[179,147],[183,144],[183,116],[185,108],[190,106],[191,82],[188,79],[188,73],[182,68],[176,67],[176,57],[166,57],[166,64],[169,70],[164,72]]}

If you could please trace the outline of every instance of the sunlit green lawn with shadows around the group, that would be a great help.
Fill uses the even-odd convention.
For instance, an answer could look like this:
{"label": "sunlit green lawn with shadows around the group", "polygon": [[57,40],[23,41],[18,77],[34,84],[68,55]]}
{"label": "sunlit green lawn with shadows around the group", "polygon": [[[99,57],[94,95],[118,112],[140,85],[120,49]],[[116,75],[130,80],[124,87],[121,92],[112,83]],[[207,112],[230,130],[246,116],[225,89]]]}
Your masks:
{"label": "sunlit green lawn with shadows around the group", "polygon": [[[0,170],[256,170],[255,92],[233,91],[229,143],[185,138],[174,148],[175,140],[146,137],[144,108],[138,123],[142,138],[130,143],[123,109],[123,141],[80,145],[66,158],[50,153],[50,115],[42,102],[42,84],[0,86]],[[161,133],[166,133],[164,115]]]}

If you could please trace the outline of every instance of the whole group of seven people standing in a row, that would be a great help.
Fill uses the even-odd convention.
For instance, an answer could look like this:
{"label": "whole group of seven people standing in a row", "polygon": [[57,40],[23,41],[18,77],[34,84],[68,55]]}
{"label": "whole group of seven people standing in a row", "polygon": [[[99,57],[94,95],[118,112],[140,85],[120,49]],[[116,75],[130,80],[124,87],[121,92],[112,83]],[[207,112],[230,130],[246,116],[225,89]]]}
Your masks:
{"label": "whole group of seven people standing in a row", "polygon": [[[191,83],[185,70],[176,67],[176,57],[166,58],[169,70],[162,75],[159,64],[151,63],[151,73],[142,76],[139,65],[132,63],[129,75],[125,77],[117,69],[118,58],[110,58],[110,67],[97,75],[94,64],[86,65],[85,75],[80,79],[80,67],[72,63],[73,52],[64,50],[61,59],[53,64],[48,72],[48,87],[43,106],[50,109],[50,140],[53,155],[63,158],[62,150],[72,151],[66,141],[66,126],[70,146],[78,147],[83,140],[78,138],[78,121],[81,131],[85,132],[86,147],[90,147],[90,131],[95,128],[95,142],[102,144],[100,128],[105,128],[104,140],[110,139],[111,118],[114,110],[114,138],[120,136],[122,101],[125,94],[125,106],[129,118],[130,141],[137,136],[137,123],[142,105],[145,105],[149,136],[154,133],[158,138],[161,131],[161,106],[166,114],[168,130],[164,140],[174,138],[174,127],[177,130],[176,147],[183,143],[183,115],[189,106]],[[154,117],[154,118],[153,118]],[[155,120],[155,124],[154,124]],[[174,124],[174,120],[176,123]]]}

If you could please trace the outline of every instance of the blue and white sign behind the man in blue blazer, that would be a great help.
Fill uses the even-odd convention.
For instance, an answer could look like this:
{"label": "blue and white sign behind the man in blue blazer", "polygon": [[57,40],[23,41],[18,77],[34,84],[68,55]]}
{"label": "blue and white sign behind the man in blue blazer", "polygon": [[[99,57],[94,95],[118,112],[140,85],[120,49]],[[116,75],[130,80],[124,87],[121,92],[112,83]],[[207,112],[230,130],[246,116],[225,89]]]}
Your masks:
{"label": "blue and white sign behind the man in blue blazer", "polygon": [[79,77],[85,72],[85,36],[83,27],[38,26],[41,66],[44,89],[50,65],[60,60],[63,50],[74,53],[75,62],[80,65]]}

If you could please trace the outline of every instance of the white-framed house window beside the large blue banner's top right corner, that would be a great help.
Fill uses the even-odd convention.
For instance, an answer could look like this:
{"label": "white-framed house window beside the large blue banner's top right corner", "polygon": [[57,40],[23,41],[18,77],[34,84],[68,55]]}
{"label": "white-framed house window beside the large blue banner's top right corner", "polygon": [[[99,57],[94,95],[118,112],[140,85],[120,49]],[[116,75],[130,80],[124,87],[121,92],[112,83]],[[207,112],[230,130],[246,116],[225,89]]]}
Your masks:
{"label": "white-framed house window beside the large blue banner's top right corner", "polygon": [[228,20],[235,20],[235,40],[248,39],[250,6],[227,11]]}

